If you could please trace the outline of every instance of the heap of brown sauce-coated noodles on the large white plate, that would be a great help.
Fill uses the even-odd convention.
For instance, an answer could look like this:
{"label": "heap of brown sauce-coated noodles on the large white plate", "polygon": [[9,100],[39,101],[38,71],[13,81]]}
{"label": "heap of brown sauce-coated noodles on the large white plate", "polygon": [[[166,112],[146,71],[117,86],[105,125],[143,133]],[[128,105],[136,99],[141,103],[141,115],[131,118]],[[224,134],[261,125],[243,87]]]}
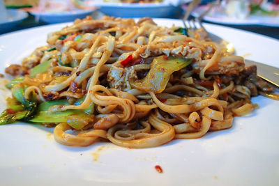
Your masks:
{"label": "heap of brown sauce-coated noodles on the large white plate", "polygon": [[[28,87],[24,96],[35,93],[38,103],[68,100],[50,107],[50,113],[94,104],[91,119],[76,134],[67,131],[73,130],[67,122],[55,123],[54,138],[67,146],[89,146],[103,138],[118,146],[148,148],[232,127],[234,116],[254,109],[249,88],[234,83],[245,68],[243,58],[227,54],[202,31],[192,37],[177,31],[150,18],[76,20],[50,33],[48,45],[22,61]],[[158,56],[191,63],[172,72],[167,85],[158,88],[148,75]],[[50,59],[46,72],[29,76],[32,68]],[[135,84],[144,78],[149,87]],[[84,98],[82,104],[73,104],[79,98]]]}

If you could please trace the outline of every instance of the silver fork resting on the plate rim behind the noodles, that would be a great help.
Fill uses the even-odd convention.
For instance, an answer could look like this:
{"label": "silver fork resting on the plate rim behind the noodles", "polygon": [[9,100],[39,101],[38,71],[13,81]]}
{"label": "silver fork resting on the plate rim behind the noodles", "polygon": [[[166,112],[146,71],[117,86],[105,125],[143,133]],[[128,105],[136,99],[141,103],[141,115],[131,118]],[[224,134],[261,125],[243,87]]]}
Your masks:
{"label": "silver fork resting on the plate rim behind the noodles", "polygon": [[195,7],[197,7],[200,3],[200,0],[193,0],[187,10],[186,13],[184,14],[184,17],[182,19],[184,28],[186,30],[197,30],[197,29],[203,29],[206,32],[206,35],[213,41],[213,42],[217,42],[219,45],[221,45],[222,47],[225,47],[227,49],[227,52],[229,52],[229,54],[235,54],[235,49],[234,49],[234,45],[232,45],[232,43],[227,42],[227,40],[224,40],[223,38],[220,38],[219,36],[210,33],[208,31],[206,31],[206,29],[204,28],[204,26],[202,25],[202,18],[208,14],[210,12],[210,10],[215,7],[220,5],[220,1],[217,0],[213,3],[209,4],[209,8],[207,10],[204,11],[204,13],[202,13],[201,15],[199,15],[199,17],[194,17],[194,18],[190,18],[190,13],[192,13],[192,11],[195,9]]}

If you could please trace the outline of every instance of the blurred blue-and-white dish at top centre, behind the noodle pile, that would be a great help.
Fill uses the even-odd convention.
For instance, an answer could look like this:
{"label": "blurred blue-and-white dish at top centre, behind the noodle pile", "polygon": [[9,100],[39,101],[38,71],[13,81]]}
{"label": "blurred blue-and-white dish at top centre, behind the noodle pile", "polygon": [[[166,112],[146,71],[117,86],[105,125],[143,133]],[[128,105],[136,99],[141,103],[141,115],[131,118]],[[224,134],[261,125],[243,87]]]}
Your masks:
{"label": "blurred blue-and-white dish at top centre, behind the noodle pile", "polygon": [[[188,3],[192,0],[183,1]],[[93,1],[91,6],[99,7],[98,10],[105,15],[114,17],[176,17],[182,9],[179,4],[174,6],[169,1],[162,3],[108,3]]]}

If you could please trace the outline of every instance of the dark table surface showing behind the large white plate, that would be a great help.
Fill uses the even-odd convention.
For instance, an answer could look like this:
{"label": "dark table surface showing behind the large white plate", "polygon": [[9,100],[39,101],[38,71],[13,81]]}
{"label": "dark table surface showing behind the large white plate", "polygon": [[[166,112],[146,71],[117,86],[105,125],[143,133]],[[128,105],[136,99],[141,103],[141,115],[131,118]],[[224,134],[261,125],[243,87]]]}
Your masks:
{"label": "dark table surface showing behind the large white plate", "polygon": [[[102,13],[95,11],[91,16],[93,18],[96,18],[96,17],[101,17],[101,14]],[[179,18],[179,17],[177,17],[177,18]],[[211,23],[211,22],[208,22],[208,23]],[[215,23],[211,23],[211,24],[215,24]],[[35,17],[33,17],[33,15],[29,14],[29,17],[27,17],[27,19],[25,19],[23,22],[21,22],[20,24],[15,26],[13,29],[10,29],[10,31],[4,32],[4,33],[20,31],[22,29],[28,29],[28,28],[32,28],[32,27],[36,27],[36,26],[43,26],[43,25],[47,25],[47,24],[44,22],[40,22],[40,21],[36,22]],[[228,26],[228,27],[232,27],[235,29],[245,30],[245,31],[251,31],[254,33],[262,34],[264,36],[269,36],[271,38],[276,38],[279,40],[279,27],[259,26],[259,25],[247,25],[247,26],[226,25],[226,24],[218,24],[218,25]],[[0,33],[0,36],[4,33]]]}

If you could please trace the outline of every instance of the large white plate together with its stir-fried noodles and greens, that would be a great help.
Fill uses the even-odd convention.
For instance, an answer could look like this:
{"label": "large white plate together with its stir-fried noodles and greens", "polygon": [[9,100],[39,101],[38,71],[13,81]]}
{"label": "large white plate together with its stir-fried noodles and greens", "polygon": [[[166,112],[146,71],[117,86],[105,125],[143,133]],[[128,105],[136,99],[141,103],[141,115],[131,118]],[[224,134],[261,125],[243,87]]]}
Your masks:
{"label": "large white plate together with its stir-fried noodles and greens", "polygon": [[276,185],[278,92],[242,56],[278,67],[279,42],[204,25],[236,55],[167,19],[1,36],[1,183]]}

